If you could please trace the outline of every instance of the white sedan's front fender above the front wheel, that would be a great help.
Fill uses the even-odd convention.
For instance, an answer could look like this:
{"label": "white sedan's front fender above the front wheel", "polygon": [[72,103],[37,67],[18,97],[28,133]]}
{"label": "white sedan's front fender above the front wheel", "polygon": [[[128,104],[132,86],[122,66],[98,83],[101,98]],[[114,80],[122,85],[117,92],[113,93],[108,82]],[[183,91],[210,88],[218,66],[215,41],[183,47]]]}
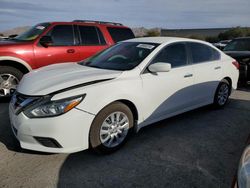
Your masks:
{"label": "white sedan's front fender above the front wheel", "polygon": [[[119,87],[117,87],[117,85],[119,85]],[[119,88],[119,90],[115,88]],[[55,95],[52,100],[86,94],[84,100],[77,108],[93,115],[97,115],[104,107],[112,102],[127,100],[135,105],[138,112],[139,123],[143,121],[141,89],[142,81],[140,77],[133,80],[116,79],[59,93]]]}

